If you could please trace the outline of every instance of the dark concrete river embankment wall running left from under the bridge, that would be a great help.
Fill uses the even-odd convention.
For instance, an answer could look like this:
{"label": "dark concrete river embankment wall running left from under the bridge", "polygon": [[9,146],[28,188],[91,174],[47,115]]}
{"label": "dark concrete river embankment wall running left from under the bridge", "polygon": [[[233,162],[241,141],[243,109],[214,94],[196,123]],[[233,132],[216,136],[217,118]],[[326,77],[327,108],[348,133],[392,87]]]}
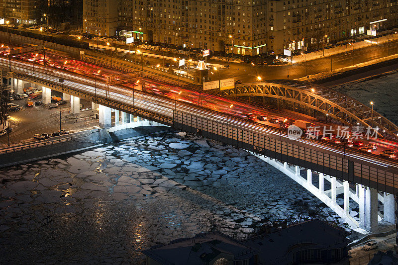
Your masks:
{"label": "dark concrete river embankment wall running left from under the bridge", "polygon": [[169,129],[170,127],[165,126],[141,126],[135,128],[122,128],[117,131],[92,129],[78,134],[50,138],[51,140],[9,147],[0,150],[0,167],[56,157],[101,146],[106,143],[117,142],[123,139],[148,135]]}

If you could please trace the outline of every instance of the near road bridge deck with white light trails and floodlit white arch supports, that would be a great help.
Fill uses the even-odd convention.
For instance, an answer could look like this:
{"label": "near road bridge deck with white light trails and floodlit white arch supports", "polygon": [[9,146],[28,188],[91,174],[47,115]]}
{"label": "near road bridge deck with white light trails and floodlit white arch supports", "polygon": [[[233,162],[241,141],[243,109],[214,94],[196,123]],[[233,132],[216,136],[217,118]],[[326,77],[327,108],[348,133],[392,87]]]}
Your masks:
{"label": "near road bridge deck with white light trails and floodlit white arch supports", "polygon": [[[3,60],[0,60],[0,65],[3,64]],[[68,84],[61,84],[56,71],[39,68],[33,76],[30,74],[29,67],[25,63],[14,62],[14,77],[38,84],[43,88],[55,89],[100,104],[100,121],[102,120],[104,125],[109,123],[110,108],[114,108],[245,149],[265,160],[283,163],[282,165],[286,165],[284,166],[286,169],[295,168],[295,176],[300,176],[302,170],[309,170],[319,176],[326,176],[322,177],[322,181],[320,181],[322,183],[323,179],[331,180],[330,192],[319,189],[321,190],[319,194],[327,194],[319,197],[322,197],[323,201],[328,200],[326,196],[330,198],[331,204],[328,205],[332,209],[335,206],[335,198],[339,193],[344,194],[345,201],[351,194],[354,201],[360,202],[360,209],[362,208],[360,219],[363,221],[356,223],[348,217],[347,206],[344,206],[343,211],[334,207],[336,213],[344,220],[348,220],[347,222],[353,228],[359,227],[371,232],[377,231],[378,216],[380,218],[383,216],[384,220],[388,222],[395,222],[395,219],[391,218],[391,213],[395,212],[394,196],[391,194],[398,194],[396,162],[380,158],[375,159],[355,152],[343,153],[341,148],[311,140],[290,140],[285,133],[282,134],[280,130],[275,128],[254,124],[246,119],[225,115],[225,113],[199,105],[144,93],[139,89],[135,89],[136,96],[134,98],[131,88],[110,87],[110,91],[107,92],[104,89],[106,88],[105,84],[102,83],[100,87],[97,87],[95,93],[94,81],[91,79],[74,74],[64,74],[64,77],[66,76],[65,78],[70,81]],[[99,84],[97,83],[97,85]],[[276,94],[279,94],[279,92]],[[312,179],[310,174],[307,175],[306,181],[302,181],[298,177],[296,181],[311,183],[308,179]],[[339,188],[339,181],[342,183],[342,189]],[[349,182],[359,184],[357,186],[358,192],[347,189]],[[311,191],[310,187],[309,184],[306,186]],[[315,190],[313,192],[316,193]],[[379,198],[380,193],[378,192],[385,192],[385,196]],[[388,208],[385,207],[384,215],[378,214],[378,200],[384,202],[385,206],[389,205]]]}

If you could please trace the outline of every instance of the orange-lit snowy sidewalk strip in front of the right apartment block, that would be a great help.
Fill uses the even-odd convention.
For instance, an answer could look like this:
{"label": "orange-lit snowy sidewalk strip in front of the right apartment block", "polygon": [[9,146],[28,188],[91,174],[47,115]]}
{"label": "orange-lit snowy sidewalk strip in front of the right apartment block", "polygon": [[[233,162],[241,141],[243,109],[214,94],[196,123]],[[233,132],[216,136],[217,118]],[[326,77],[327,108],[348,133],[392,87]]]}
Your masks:
{"label": "orange-lit snowy sidewalk strip in front of the right apartment block", "polygon": [[[374,37],[373,38],[373,44],[371,41],[371,37],[368,36],[369,39],[365,39],[362,41],[358,41],[358,42],[354,42],[354,49],[360,49],[360,48],[364,48],[364,47],[369,47],[372,45],[378,45],[381,43],[385,43],[387,42],[387,37],[389,41],[393,41],[393,40],[397,40],[398,39],[398,33],[394,33],[394,34],[390,34],[390,35],[386,35],[386,36],[382,36],[382,37]],[[351,39],[352,40],[352,39]],[[340,42],[339,42],[340,43]],[[305,60],[310,61],[310,60],[315,60],[318,58],[322,58],[322,57],[328,57],[328,56],[332,56],[335,54],[339,54],[339,53],[343,53],[343,52],[347,52],[347,51],[352,51],[352,45],[350,45],[347,40],[346,40],[346,47],[344,47],[343,45],[341,46],[336,46],[333,48],[328,48],[325,49],[325,55],[323,56],[323,50],[319,50],[317,52],[310,52],[304,55],[298,55],[298,56],[293,56],[293,63],[300,63],[300,62],[304,62]]]}

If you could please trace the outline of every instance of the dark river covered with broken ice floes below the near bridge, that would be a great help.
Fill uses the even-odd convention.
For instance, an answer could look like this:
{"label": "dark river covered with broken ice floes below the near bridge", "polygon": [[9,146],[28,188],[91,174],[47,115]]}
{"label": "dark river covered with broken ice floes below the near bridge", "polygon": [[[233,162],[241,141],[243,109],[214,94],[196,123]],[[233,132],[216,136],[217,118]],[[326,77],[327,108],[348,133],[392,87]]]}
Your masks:
{"label": "dark river covered with broken ice floes below the near bridge", "polygon": [[194,135],[154,134],[1,169],[1,259],[139,264],[140,250],[212,225],[239,238],[261,221],[295,219],[297,201],[341,221],[257,157]]}

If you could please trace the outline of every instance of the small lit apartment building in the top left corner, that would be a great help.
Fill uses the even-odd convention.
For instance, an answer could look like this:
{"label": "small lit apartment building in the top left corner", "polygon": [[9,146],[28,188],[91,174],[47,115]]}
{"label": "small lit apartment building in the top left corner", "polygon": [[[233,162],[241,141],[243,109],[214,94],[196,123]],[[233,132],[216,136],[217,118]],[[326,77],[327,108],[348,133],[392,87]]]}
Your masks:
{"label": "small lit apartment building in the top left corner", "polygon": [[36,24],[45,20],[43,0],[0,0],[1,17],[15,24]]}

